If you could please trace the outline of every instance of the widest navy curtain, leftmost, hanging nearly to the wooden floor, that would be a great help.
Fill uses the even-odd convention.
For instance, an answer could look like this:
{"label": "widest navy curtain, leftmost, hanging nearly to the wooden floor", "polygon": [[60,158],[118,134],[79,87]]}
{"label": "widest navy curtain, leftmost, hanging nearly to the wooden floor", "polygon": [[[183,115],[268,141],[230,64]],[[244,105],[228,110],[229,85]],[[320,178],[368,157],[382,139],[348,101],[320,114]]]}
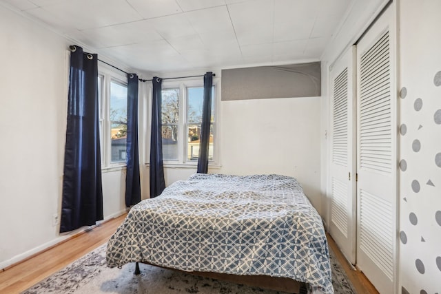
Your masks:
{"label": "widest navy curtain, leftmost, hanging nearly to the wooden floor", "polygon": [[71,49],[60,233],[103,220],[98,56]]}

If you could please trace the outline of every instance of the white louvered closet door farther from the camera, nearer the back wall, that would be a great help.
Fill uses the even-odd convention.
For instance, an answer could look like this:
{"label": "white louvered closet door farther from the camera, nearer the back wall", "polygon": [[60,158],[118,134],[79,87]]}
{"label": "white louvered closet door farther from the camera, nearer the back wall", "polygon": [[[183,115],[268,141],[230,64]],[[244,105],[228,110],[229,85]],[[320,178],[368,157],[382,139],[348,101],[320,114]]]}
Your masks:
{"label": "white louvered closet door farther from the camera, nearer the back wall", "polygon": [[331,78],[331,211],[329,233],[352,264],[356,262],[355,46],[342,55]]}

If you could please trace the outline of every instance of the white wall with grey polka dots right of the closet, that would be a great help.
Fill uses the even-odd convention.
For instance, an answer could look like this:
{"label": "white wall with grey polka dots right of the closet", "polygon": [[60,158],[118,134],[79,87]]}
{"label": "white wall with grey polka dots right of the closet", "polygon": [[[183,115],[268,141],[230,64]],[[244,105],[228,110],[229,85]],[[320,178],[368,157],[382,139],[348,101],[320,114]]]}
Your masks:
{"label": "white wall with grey polka dots right of the closet", "polygon": [[439,0],[400,1],[402,294],[441,293],[440,12]]}

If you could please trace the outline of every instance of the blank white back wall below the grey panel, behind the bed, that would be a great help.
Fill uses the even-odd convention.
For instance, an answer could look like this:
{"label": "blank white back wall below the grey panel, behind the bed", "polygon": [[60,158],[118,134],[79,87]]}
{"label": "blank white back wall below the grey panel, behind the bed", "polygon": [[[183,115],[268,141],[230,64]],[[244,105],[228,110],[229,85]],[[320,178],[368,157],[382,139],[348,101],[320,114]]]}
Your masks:
{"label": "blank white back wall below the grey panel, behind the bed", "polygon": [[294,176],[320,212],[320,97],[223,101],[223,174]]}

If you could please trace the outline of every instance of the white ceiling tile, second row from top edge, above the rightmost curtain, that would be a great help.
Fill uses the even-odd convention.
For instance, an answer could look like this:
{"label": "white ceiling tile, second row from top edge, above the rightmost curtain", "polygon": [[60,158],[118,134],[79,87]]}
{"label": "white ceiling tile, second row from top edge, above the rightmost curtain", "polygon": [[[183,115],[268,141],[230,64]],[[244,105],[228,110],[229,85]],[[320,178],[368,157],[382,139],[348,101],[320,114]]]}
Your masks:
{"label": "white ceiling tile, second row from top edge, above the rightmost curtain", "polygon": [[207,32],[215,34],[214,32],[222,30],[233,30],[227,6],[186,12],[185,16],[199,34]]}

